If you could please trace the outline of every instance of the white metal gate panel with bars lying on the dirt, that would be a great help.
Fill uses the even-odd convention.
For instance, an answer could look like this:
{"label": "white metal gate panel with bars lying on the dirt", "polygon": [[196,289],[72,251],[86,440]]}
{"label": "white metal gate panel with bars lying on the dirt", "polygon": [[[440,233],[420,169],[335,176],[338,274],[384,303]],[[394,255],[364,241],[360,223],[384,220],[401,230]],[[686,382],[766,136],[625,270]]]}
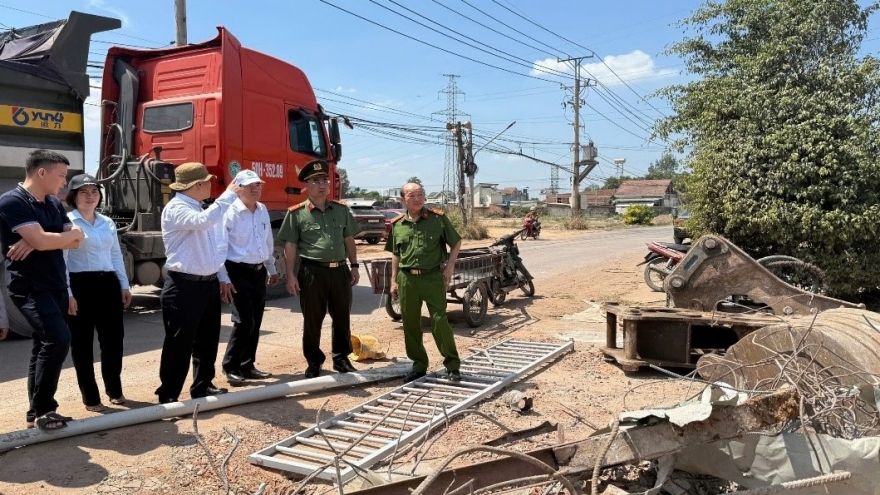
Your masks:
{"label": "white metal gate panel with bars lying on the dirt", "polygon": [[460,382],[446,379],[441,374],[445,368],[440,368],[251,454],[248,460],[301,475],[320,470],[318,478],[336,480],[334,459],[341,456],[339,477],[345,483],[356,476],[356,468],[369,468],[443,421],[446,414],[491,396],[571,351],[573,345],[506,340],[463,359]]}

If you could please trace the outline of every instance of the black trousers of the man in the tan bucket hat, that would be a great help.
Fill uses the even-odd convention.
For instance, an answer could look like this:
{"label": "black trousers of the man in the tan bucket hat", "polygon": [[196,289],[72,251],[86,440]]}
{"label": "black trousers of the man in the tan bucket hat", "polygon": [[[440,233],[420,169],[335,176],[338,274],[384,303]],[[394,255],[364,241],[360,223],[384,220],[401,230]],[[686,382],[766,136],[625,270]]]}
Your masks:
{"label": "black trousers of the man in the tan bucket hat", "polygon": [[168,272],[162,288],[162,321],[165,342],[159,364],[162,384],[159,401],[178,399],[192,357],[193,384],[190,394],[213,386],[214,363],[220,343],[220,282],[190,280],[185,274]]}

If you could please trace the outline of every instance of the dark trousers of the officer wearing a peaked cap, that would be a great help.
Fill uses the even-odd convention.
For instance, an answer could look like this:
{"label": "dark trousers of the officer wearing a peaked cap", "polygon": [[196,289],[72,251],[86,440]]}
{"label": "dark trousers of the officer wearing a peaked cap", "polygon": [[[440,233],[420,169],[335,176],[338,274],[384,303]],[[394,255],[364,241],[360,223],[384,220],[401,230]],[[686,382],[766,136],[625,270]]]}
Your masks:
{"label": "dark trousers of the officer wearing a peaked cap", "polygon": [[325,356],[321,351],[321,325],[328,313],[333,320],[333,359],[347,358],[351,353],[351,270],[348,265],[327,268],[305,260],[297,274],[303,314],[303,355],[309,364],[320,365]]}

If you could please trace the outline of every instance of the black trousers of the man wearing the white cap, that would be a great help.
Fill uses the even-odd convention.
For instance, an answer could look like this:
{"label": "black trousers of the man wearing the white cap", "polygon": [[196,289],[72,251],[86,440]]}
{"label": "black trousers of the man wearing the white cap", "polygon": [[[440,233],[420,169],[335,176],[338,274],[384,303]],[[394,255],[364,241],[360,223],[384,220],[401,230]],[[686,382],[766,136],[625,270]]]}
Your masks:
{"label": "black trousers of the man wearing the white cap", "polygon": [[226,272],[235,287],[232,294],[232,335],[223,357],[225,371],[255,368],[260,326],[266,309],[266,267],[226,262]]}

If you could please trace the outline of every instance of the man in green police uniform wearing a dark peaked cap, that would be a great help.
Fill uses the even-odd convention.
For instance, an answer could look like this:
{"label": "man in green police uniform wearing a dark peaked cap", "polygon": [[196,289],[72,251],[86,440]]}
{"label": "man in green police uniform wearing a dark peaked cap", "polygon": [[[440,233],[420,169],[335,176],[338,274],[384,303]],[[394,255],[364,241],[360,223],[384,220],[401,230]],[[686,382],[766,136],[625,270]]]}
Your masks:
{"label": "man in green police uniform wearing a dark peaked cap", "polygon": [[[284,242],[287,291],[299,295],[303,315],[303,354],[306,378],[321,374],[321,324],[330,313],[333,369],[357,371],[348,360],[351,353],[351,287],[358,283],[357,224],[345,204],[327,199],[330,180],[327,162],[314,160],[299,171],[309,199],[292,206],[284,217],[278,238]],[[294,276],[296,257],[299,274]],[[350,263],[345,262],[346,255]],[[354,268],[353,270],[349,269]]]}

